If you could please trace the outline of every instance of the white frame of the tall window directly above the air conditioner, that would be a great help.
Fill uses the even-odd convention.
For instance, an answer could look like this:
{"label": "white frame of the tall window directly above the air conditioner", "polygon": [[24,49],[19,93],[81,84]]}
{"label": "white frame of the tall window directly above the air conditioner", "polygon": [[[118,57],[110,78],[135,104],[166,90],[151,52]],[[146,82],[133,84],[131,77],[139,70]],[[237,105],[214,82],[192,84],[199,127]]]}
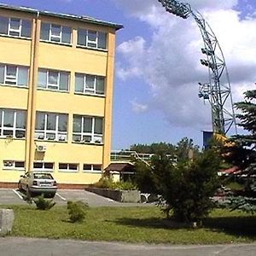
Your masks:
{"label": "white frame of the tall window directly above the air conditioner", "polygon": [[[35,130],[35,139],[37,140],[44,140],[44,141],[54,141],[54,142],[65,142],[67,143],[67,131],[59,131],[59,115],[63,113],[49,113],[49,112],[37,112],[37,113],[44,113],[44,130]],[[47,114],[55,114],[55,130],[48,130],[47,129]],[[67,115],[67,121],[68,121],[68,114]],[[67,127],[68,130],[68,127]],[[37,133],[39,134],[37,136]],[[49,137],[47,137],[48,133],[54,133],[55,139],[51,140]],[[40,137],[40,135],[44,134],[43,138]],[[62,139],[64,137],[64,139]]]}

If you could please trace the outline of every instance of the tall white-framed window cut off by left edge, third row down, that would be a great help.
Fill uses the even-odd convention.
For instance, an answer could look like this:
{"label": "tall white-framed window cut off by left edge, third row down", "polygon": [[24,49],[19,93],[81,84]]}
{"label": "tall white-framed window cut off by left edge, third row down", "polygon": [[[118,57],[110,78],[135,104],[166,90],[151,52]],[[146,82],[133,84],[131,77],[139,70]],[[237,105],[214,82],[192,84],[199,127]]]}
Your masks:
{"label": "tall white-framed window cut off by left edge, third row down", "polygon": [[24,138],[26,112],[23,110],[0,108],[0,136]]}

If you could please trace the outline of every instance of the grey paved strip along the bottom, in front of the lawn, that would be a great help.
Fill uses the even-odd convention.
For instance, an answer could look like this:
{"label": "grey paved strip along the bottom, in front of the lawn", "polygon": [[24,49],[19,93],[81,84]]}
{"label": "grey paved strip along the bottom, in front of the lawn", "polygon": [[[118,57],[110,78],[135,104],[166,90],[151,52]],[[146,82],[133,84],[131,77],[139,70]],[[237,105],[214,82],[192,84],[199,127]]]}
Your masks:
{"label": "grey paved strip along the bottom, in front of the lawn", "polygon": [[1,256],[254,256],[256,243],[211,246],[137,245],[105,241],[1,237]]}

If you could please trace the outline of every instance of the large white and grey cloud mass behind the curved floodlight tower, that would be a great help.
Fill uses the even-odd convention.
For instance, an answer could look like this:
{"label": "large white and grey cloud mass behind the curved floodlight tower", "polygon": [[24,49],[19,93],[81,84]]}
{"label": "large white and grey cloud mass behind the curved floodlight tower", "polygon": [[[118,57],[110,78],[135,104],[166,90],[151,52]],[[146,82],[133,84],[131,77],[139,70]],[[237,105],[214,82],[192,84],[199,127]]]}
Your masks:
{"label": "large white and grey cloud mass behind the curved floodlight tower", "polygon": [[[232,9],[237,0],[191,0],[200,9],[221,45],[230,72],[234,102],[256,81],[256,19],[241,20]],[[210,3],[209,3],[210,2]],[[170,15],[156,0],[118,4],[143,22],[150,38],[132,38],[119,44],[118,74],[122,79],[143,78],[151,91],[150,108],[158,109],[175,125],[205,127],[211,123],[209,106],[198,98],[198,82],[207,82],[200,59],[203,41],[193,18]]]}

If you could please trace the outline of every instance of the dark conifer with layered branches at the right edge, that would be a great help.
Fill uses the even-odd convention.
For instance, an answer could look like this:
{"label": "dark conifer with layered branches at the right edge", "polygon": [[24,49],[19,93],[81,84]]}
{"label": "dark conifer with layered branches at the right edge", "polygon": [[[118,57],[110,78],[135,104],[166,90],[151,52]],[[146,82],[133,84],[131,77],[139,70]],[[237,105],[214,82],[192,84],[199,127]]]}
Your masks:
{"label": "dark conifer with layered branches at the right edge", "polygon": [[244,196],[231,198],[232,209],[240,209],[246,212],[256,212],[256,90],[247,90],[244,93],[245,100],[235,104],[241,113],[237,114],[240,126],[247,134],[232,137],[235,142],[233,147],[227,148],[227,159],[239,166],[243,174],[247,175]]}

